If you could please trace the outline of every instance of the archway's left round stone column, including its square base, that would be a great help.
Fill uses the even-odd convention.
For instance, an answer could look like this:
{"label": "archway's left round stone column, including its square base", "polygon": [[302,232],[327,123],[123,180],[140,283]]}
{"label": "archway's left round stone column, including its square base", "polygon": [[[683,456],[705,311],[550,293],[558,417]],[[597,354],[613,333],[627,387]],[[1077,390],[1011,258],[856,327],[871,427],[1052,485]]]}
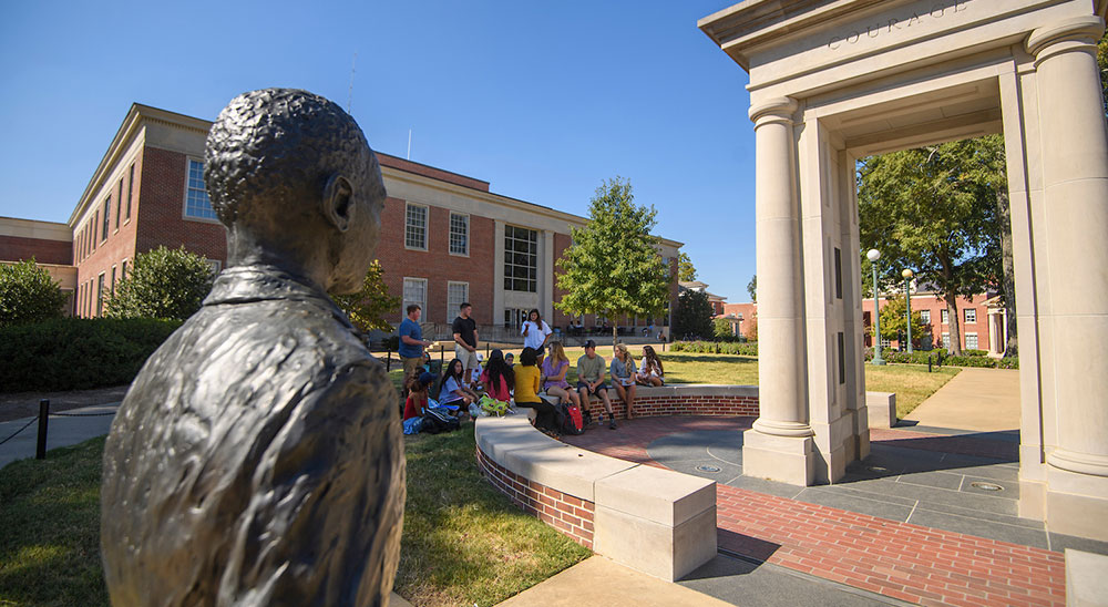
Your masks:
{"label": "archway's left round stone column, including its square base", "polygon": [[756,142],[760,414],[753,429],[743,433],[742,466],[749,476],[808,485],[813,479],[813,433],[804,372],[796,111],[797,102],[787,97],[750,109]]}

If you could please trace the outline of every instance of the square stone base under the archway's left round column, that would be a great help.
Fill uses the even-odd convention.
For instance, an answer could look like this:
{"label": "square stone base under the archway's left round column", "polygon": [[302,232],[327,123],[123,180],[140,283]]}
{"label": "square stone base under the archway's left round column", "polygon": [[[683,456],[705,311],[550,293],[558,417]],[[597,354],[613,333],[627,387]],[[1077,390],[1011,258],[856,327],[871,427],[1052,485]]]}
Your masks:
{"label": "square stone base under the archway's left round column", "polygon": [[753,429],[745,431],[742,474],[790,485],[811,485],[815,479],[812,438],[776,436]]}

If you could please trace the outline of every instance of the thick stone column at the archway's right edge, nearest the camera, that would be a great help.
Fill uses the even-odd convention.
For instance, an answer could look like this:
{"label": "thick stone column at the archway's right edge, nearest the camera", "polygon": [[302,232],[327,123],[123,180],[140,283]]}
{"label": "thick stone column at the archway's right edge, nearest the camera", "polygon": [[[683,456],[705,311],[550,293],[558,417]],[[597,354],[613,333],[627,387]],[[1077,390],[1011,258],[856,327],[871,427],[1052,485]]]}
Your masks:
{"label": "thick stone column at the archway's right edge, nearest the camera", "polygon": [[[1089,16],[1040,28],[1027,39],[1042,126],[1053,343],[1042,363],[1055,369],[1048,402],[1058,421],[1056,449],[1046,455],[1047,516],[1060,533],[1067,532],[1056,522],[1066,518],[1079,524],[1108,517],[1108,358],[1096,346],[1108,342],[1108,128],[1095,45],[1102,32],[1104,21]],[[1108,539],[1099,526],[1095,536]]]}

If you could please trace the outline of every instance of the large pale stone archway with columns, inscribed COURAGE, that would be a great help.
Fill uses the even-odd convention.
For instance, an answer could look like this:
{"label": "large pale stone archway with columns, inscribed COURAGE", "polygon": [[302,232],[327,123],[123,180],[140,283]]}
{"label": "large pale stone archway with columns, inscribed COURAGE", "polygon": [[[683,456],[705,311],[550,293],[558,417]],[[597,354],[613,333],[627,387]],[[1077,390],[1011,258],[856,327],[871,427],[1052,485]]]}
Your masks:
{"label": "large pale stone archway with columns, inscribed COURAGE", "polygon": [[700,29],[750,74],[761,416],[747,474],[869,453],[854,162],[1003,133],[1022,372],[1020,515],[1108,539],[1108,0],[747,0]]}

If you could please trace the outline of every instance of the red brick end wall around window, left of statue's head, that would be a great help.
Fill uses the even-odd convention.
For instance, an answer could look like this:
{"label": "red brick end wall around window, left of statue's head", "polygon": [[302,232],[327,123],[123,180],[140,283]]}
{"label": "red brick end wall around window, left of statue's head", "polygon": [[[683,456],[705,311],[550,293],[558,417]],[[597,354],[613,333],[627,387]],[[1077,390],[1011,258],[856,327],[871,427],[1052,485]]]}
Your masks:
{"label": "red brick end wall around window, left of statue's head", "polygon": [[[138,195],[138,233],[135,250],[182,245],[196,255],[227,263],[227,229],[218,222],[184,218],[187,156],[145,147],[142,153]],[[136,177],[138,178],[138,177]],[[132,209],[134,213],[135,209]]]}

